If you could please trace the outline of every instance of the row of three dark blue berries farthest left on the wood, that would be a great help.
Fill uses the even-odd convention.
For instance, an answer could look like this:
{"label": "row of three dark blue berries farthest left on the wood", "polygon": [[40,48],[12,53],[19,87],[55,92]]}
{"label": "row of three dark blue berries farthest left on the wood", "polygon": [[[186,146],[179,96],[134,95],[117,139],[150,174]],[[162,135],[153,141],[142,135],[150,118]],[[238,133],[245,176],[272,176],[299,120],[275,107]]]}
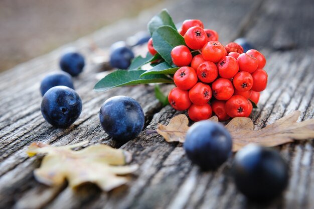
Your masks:
{"label": "row of three dark blue berries farthest left on the wood", "polygon": [[51,125],[67,128],[80,116],[82,100],[74,90],[72,76],[79,75],[84,65],[85,60],[80,53],[66,53],[60,59],[60,68],[63,71],[50,73],[42,80],[41,112]]}

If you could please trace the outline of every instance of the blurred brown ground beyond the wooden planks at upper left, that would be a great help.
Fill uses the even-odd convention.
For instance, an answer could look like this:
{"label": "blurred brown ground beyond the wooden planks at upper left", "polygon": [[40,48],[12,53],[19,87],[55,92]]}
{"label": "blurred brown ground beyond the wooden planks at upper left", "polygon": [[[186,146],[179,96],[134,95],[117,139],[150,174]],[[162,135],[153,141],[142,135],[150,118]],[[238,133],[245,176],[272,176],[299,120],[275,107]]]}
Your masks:
{"label": "blurred brown ground beyond the wooden planks at upper left", "polygon": [[0,71],[137,16],[162,0],[1,0]]}

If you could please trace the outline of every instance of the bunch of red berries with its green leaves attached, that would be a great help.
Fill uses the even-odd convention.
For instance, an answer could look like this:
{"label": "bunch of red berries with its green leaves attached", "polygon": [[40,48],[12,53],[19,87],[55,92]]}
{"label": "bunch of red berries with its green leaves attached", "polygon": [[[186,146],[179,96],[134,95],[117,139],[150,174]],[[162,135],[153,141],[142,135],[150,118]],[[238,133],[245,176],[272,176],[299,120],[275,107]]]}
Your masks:
{"label": "bunch of red berries with its green leaves attached", "polygon": [[151,38],[146,56],[135,57],[127,70],[106,75],[96,83],[96,91],[174,83],[176,87],[168,98],[158,85],[155,96],[163,105],[169,101],[176,110],[188,110],[193,121],[206,120],[213,114],[220,121],[250,116],[259,92],[267,85],[262,53],[244,51],[235,42],[222,45],[218,33],[204,29],[200,20],[186,20],[178,29],[167,10],[152,17],[147,28]]}

